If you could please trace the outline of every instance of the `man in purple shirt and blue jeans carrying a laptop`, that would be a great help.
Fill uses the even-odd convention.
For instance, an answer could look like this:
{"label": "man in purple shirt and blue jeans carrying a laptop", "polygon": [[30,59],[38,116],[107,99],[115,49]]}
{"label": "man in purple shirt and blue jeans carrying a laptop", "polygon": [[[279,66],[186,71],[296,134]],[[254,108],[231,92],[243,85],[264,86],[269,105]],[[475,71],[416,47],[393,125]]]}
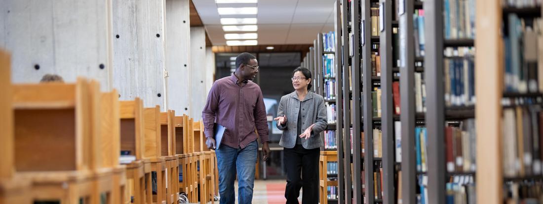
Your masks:
{"label": "man in purple shirt and blue jeans carrying a laptop", "polygon": [[[260,87],[251,81],[257,74],[256,57],[247,52],[239,54],[235,73],[213,83],[202,111],[206,145],[216,149],[220,204],[233,204],[236,200],[236,170],[238,203],[251,203],[258,154],[257,135],[263,144],[262,159],[268,160],[266,107]],[[219,147],[213,139],[214,122],[226,128]]]}

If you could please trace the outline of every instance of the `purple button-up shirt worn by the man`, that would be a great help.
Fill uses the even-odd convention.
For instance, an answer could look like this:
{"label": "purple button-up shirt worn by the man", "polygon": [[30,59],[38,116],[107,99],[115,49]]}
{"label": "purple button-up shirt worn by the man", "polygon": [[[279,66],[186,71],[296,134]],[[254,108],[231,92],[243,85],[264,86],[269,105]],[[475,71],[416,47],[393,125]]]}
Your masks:
{"label": "purple button-up shirt worn by the man", "polygon": [[213,136],[213,123],[226,127],[222,144],[245,148],[256,140],[255,127],[261,142],[268,142],[266,107],[260,87],[252,81],[238,84],[235,75],[213,83],[202,111],[204,133]]}

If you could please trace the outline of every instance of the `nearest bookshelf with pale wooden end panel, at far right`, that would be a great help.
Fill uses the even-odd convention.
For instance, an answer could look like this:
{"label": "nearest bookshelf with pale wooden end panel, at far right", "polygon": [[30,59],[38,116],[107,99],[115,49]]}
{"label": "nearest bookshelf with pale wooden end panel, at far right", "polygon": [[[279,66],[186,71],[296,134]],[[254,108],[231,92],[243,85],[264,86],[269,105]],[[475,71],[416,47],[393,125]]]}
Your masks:
{"label": "nearest bookshelf with pale wooden end panel, at far right", "polygon": [[[477,1],[477,35],[485,37],[475,41],[475,69],[485,74],[476,75],[477,103],[484,106],[477,107],[475,115],[477,140],[485,143],[477,143],[476,182],[489,186],[477,188],[477,201],[540,203],[541,190],[534,191],[527,184],[541,186],[541,169],[531,168],[540,166],[541,149],[531,145],[535,141],[522,144],[527,144],[527,138],[541,138],[537,115],[541,113],[542,11],[539,4],[508,2],[516,5]],[[494,71],[488,73],[488,69]],[[527,78],[522,76],[524,71]],[[529,85],[532,80],[535,87]],[[517,165],[512,168],[510,163]],[[533,194],[524,193],[526,190]]]}

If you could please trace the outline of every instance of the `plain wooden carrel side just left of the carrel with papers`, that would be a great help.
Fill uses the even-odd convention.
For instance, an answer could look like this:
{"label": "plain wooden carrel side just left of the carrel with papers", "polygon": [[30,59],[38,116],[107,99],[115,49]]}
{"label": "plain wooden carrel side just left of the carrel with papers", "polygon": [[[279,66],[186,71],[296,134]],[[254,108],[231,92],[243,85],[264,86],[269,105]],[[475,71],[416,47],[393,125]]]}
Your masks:
{"label": "plain wooden carrel side just left of the carrel with papers", "polygon": [[121,155],[121,113],[117,90],[102,93],[100,97],[100,137],[102,140],[102,162],[113,168],[112,203],[129,203],[126,198],[126,166],[119,164]]}

